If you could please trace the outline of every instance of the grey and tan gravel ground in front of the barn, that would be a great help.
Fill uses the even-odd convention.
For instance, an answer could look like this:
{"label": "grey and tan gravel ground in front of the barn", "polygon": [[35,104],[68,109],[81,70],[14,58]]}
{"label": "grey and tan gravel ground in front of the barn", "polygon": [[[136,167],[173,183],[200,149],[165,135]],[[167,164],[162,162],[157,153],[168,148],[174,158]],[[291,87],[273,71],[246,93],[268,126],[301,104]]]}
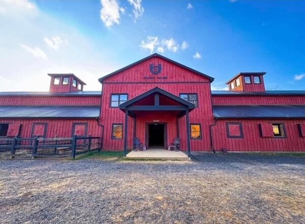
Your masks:
{"label": "grey and tan gravel ground in front of the barn", "polygon": [[0,223],[305,223],[305,157],[0,161]]}

